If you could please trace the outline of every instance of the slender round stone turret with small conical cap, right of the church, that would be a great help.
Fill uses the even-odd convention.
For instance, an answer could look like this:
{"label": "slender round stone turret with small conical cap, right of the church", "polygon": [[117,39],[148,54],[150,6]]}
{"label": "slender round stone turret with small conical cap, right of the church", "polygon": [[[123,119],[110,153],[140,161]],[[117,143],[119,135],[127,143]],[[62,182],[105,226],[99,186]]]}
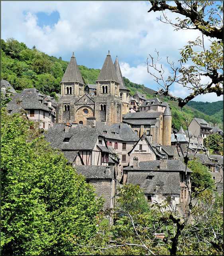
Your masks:
{"label": "slender round stone turret with small conical cap, right of the church", "polygon": [[163,146],[171,146],[172,115],[169,104],[163,112]]}

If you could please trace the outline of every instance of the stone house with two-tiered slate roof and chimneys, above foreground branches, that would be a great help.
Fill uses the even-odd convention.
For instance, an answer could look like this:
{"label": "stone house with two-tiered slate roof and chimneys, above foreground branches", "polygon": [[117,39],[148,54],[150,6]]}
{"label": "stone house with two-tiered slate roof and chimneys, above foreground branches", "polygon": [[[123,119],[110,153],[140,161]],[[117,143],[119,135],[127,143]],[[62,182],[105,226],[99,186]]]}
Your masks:
{"label": "stone house with two-tiered slate roof and chimneys, above foreground branches", "polygon": [[[133,165],[124,168],[127,173],[127,183],[139,184],[149,202],[162,202],[174,197],[175,204],[186,204],[188,188],[185,180],[185,164],[181,160],[160,160],[139,162],[134,158]],[[187,168],[187,182],[191,186],[190,174]]]}

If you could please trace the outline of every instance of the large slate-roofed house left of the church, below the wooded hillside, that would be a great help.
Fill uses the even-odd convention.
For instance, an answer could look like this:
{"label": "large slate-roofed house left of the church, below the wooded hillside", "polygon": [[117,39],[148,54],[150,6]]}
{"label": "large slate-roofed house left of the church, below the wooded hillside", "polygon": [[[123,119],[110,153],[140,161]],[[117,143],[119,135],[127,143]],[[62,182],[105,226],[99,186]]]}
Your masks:
{"label": "large slate-roofed house left of the church, below the wooded hillside", "polygon": [[[29,120],[39,123],[39,128],[48,130],[55,124],[56,101],[53,97],[41,94],[35,88],[28,88],[12,96],[7,104],[9,114],[25,110]],[[33,126],[30,127],[31,129]]]}

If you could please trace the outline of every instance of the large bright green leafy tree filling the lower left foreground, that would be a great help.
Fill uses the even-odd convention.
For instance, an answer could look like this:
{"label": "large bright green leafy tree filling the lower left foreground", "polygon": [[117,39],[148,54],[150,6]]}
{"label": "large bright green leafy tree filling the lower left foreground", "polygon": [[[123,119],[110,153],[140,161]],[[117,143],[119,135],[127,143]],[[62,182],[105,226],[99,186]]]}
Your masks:
{"label": "large bright green leafy tree filling the lower left foreground", "polygon": [[2,111],[2,255],[77,254],[68,236],[82,244],[96,234],[102,198],[31,125]]}

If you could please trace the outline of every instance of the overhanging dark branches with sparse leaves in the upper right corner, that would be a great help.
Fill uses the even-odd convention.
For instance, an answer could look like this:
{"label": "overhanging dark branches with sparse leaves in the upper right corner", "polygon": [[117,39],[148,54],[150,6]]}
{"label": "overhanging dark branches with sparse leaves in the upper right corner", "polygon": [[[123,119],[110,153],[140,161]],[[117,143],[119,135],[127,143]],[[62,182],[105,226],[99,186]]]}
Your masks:
{"label": "overhanging dark branches with sparse leaves in the upper right corner", "polygon": [[[202,35],[195,41],[189,41],[188,45],[181,50],[179,66],[175,66],[174,62],[167,57],[171,73],[167,78],[164,77],[165,72],[162,66],[158,67],[159,53],[156,51],[156,60],[149,54],[148,72],[162,87],[155,94],[170,96],[171,100],[179,102],[180,107],[185,106],[187,102],[200,94],[214,92],[217,96],[221,96],[223,94],[223,2],[215,5],[214,1],[174,1],[176,6],[169,5],[169,1],[151,0],[150,2],[152,7],[148,12],[161,11],[165,19],[163,21],[159,18],[162,22],[171,24],[176,30],[198,30]],[[177,18],[177,23],[173,23],[163,12],[164,10],[181,14],[185,18]],[[206,37],[211,42],[208,49],[204,44]],[[201,50],[198,51],[198,48]],[[154,74],[151,68],[158,73]],[[207,82],[203,82],[204,80]],[[184,99],[173,96],[169,92],[169,87],[175,82],[193,92]]]}

